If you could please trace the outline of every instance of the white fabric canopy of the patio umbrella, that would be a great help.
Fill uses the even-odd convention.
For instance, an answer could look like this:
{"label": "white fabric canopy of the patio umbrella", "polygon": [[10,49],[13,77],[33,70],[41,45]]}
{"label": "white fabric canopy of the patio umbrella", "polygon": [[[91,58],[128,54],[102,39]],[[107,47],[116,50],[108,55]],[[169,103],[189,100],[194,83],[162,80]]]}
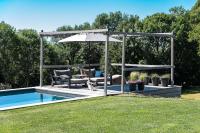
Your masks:
{"label": "white fabric canopy of the patio umbrella", "polygon": [[[64,42],[106,42],[106,35],[100,33],[82,33],[76,34],[58,41]],[[122,42],[121,40],[109,37],[109,42]]]}

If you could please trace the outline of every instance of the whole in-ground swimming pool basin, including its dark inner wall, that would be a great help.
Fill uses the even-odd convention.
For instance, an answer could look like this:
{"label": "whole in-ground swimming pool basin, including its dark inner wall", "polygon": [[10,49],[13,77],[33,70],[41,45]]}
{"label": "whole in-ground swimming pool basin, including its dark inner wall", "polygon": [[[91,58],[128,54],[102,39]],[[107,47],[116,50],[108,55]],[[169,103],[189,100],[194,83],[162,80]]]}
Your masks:
{"label": "whole in-ground swimming pool basin, including its dark inner wall", "polygon": [[22,89],[0,92],[0,110],[12,107],[24,107],[26,105],[42,104],[82,97],[81,95],[69,93],[56,93],[38,89]]}

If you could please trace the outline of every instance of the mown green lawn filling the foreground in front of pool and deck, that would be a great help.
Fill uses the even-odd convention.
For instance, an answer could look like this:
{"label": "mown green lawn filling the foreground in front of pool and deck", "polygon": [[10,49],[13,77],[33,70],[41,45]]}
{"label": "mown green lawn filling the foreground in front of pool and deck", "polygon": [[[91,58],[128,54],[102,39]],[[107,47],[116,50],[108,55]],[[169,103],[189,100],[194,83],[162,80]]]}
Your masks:
{"label": "mown green lawn filling the foreground in front of pool and deck", "polygon": [[200,101],[109,96],[0,112],[0,132],[200,132]]}

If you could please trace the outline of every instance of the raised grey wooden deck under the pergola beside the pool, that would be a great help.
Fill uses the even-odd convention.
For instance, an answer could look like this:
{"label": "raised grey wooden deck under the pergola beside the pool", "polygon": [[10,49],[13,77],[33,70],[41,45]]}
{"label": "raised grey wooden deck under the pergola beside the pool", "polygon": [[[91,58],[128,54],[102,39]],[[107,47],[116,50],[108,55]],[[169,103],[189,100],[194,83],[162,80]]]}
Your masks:
{"label": "raised grey wooden deck under the pergola beside the pool", "polygon": [[[71,93],[71,94],[78,94],[84,95],[87,98],[90,97],[99,97],[104,96],[104,86],[97,86],[95,90],[89,90],[87,87],[82,86],[74,86],[72,88],[68,88],[67,86],[58,85],[58,86],[43,86],[43,87],[36,87],[38,89],[46,90],[46,91],[55,91],[61,93]],[[126,84],[124,86],[124,92],[129,93],[129,85]],[[134,91],[133,93],[136,94],[143,94],[143,95],[151,95],[151,96],[159,96],[159,97],[180,97],[181,96],[181,87],[174,86],[174,87],[162,87],[162,86],[151,86],[146,85],[144,91]],[[107,95],[117,95],[121,94],[121,86],[120,85],[109,85],[107,87]]]}

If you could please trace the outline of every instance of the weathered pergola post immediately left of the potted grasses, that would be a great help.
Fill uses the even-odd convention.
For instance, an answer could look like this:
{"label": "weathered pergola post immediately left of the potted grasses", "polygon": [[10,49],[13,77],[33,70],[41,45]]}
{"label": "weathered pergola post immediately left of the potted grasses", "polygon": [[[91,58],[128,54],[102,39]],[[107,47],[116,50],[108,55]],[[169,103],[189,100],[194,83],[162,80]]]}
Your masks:
{"label": "weathered pergola post immediately left of the potted grasses", "polygon": [[126,43],[126,35],[123,35],[123,43],[122,43],[122,78],[121,78],[121,93],[124,93],[124,69],[125,69],[125,43]]}

